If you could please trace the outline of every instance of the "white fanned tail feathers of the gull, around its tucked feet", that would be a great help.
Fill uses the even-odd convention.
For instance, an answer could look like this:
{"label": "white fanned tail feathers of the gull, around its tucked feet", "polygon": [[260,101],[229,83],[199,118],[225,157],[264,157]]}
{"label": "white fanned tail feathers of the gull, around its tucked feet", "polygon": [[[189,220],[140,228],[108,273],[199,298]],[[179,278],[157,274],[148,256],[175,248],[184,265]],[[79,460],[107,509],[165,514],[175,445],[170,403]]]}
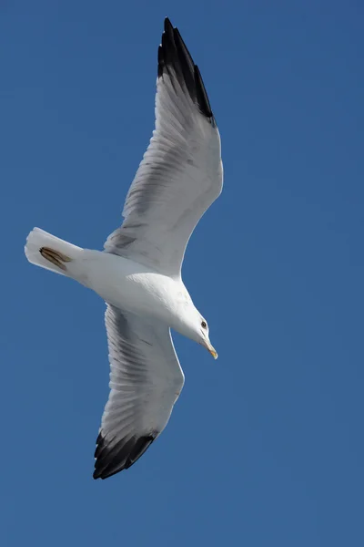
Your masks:
{"label": "white fanned tail feathers of the gull, around its tucked feet", "polygon": [[[59,239],[59,237],[56,237],[56,235],[45,232],[40,228],[34,228],[26,238],[26,258],[30,263],[35,264],[36,266],[40,266],[41,268],[45,268],[45,270],[50,270],[51,272],[61,275],[67,275],[67,271],[61,269],[42,256],[39,252],[42,247],[48,247],[56,251],[56,253],[64,254],[70,261],[80,258],[84,252],[81,247],[65,242],[64,240]],[[73,275],[70,274],[70,277],[73,277]]]}

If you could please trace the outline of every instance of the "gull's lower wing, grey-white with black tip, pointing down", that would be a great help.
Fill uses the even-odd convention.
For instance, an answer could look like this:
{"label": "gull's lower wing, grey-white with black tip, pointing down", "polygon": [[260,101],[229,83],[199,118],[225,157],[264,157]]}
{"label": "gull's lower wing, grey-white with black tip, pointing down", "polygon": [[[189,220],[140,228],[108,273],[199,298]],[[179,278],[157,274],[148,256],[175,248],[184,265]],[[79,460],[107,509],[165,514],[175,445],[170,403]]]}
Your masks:
{"label": "gull's lower wing, grey-white with black tip, pointing down", "polygon": [[166,325],[106,309],[110,395],[96,441],[94,479],[129,468],[167,426],[184,375]]}

